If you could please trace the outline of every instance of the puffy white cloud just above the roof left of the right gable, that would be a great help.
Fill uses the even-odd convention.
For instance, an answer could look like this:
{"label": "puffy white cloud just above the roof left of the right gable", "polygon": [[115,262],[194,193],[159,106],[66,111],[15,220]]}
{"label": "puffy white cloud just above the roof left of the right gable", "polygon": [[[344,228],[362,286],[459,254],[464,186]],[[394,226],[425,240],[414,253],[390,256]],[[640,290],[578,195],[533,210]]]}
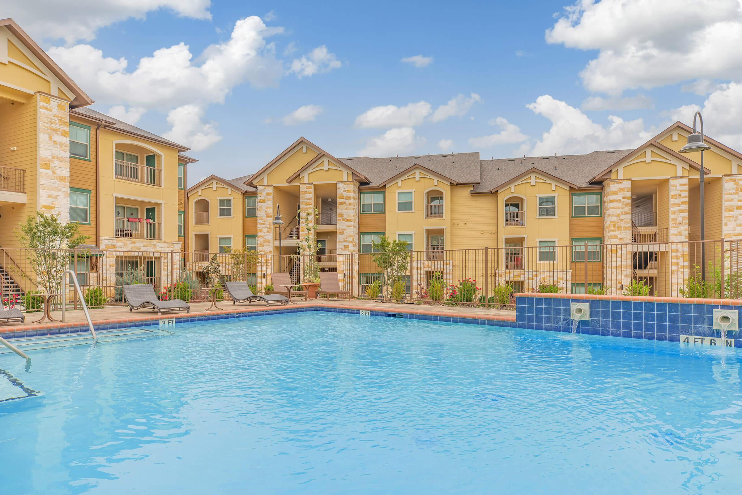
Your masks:
{"label": "puffy white cloud just above the roof left of the right gable", "polygon": [[[593,122],[579,109],[568,105],[548,94],[539,96],[535,102],[526,105],[533,113],[551,121],[551,128],[541,140],[530,147],[522,147],[524,153],[533,155],[580,154],[610,148],[635,148],[653,135],[645,131],[642,119],[624,121],[614,115],[608,116],[611,122],[607,128]],[[656,134],[656,132],[654,133]]]}

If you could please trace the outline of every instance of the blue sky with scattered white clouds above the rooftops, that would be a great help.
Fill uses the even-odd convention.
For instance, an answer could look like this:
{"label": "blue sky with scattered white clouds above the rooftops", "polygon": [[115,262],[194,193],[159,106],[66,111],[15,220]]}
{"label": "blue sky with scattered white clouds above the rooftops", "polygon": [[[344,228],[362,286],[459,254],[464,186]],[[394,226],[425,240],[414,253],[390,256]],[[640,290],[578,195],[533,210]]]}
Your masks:
{"label": "blue sky with scattered white clouds above the rooftops", "polygon": [[634,148],[703,111],[742,149],[742,0],[9,0],[95,103],[192,148],[188,185],[303,136],[336,157]]}

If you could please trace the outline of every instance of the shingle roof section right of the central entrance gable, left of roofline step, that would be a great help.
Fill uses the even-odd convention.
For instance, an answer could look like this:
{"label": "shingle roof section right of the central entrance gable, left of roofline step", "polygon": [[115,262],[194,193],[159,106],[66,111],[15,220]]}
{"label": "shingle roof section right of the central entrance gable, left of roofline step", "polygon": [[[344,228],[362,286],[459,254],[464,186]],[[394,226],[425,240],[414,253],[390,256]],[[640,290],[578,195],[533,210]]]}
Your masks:
{"label": "shingle roof section right of the central entrance gable, left of roofline step", "polygon": [[448,153],[415,155],[413,157],[349,157],[341,158],[370,179],[370,186],[378,186],[413,165],[441,174],[459,184],[479,183],[479,153]]}

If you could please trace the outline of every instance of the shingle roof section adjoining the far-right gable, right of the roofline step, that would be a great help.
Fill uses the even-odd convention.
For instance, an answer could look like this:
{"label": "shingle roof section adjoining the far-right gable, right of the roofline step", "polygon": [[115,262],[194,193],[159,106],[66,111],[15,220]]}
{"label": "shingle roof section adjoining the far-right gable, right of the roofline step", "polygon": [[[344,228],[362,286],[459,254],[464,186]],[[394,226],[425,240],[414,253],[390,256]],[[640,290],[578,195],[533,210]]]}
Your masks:
{"label": "shingle roof section adjoining the far-right gable, right of the roofline step", "polygon": [[631,150],[593,151],[588,154],[560,155],[557,157],[525,157],[500,158],[496,160],[481,160],[482,180],[474,188],[474,192],[489,192],[505,185],[531,168],[544,171],[554,177],[574,184],[578,187],[588,187],[588,183],[596,174],[626,157]]}

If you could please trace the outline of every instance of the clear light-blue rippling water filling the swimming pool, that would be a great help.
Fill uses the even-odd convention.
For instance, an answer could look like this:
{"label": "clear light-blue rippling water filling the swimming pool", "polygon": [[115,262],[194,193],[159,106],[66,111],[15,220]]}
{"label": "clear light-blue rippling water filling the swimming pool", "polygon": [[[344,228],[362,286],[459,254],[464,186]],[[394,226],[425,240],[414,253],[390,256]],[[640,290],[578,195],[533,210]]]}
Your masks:
{"label": "clear light-blue rippling water filling the swimming pool", "polygon": [[329,312],[16,355],[1,493],[739,493],[741,353]]}

